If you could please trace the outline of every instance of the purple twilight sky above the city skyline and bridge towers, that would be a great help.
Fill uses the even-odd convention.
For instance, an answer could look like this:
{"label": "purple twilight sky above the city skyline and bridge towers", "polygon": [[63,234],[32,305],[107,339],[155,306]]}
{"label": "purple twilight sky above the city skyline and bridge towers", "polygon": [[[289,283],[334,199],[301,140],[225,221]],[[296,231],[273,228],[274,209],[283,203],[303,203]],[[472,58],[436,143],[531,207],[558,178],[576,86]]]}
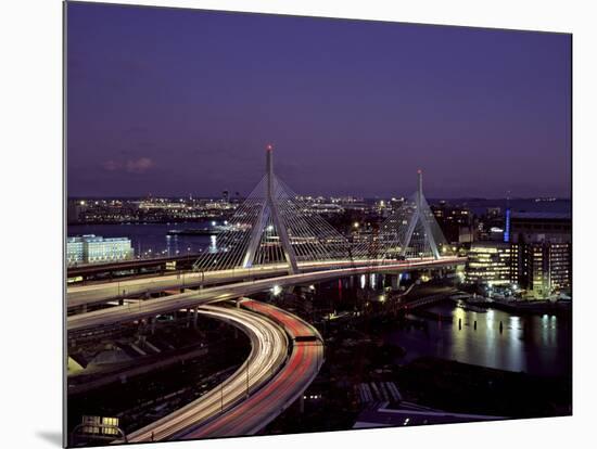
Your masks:
{"label": "purple twilight sky above the city skyline and bridge towers", "polygon": [[570,196],[570,35],[67,10],[71,196]]}

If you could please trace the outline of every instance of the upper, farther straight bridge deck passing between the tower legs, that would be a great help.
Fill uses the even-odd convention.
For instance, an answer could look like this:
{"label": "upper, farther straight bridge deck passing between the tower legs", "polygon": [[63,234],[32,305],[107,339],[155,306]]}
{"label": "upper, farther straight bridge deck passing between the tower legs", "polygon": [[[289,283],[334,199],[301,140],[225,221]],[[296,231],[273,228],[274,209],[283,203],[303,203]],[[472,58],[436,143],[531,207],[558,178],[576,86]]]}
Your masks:
{"label": "upper, farther straight bridge deck passing between the tower legs", "polygon": [[[462,258],[442,258],[439,260],[461,260]],[[305,262],[300,264],[302,273],[313,271],[333,270],[339,268],[373,268],[376,271],[392,271],[396,266],[409,265],[419,261],[437,261],[433,258],[412,259],[412,260],[334,260],[326,262]],[[373,271],[373,270],[370,270]],[[283,275],[288,272],[288,265],[268,265],[254,268],[236,268],[230,270],[204,271],[204,272],[183,272],[167,275],[157,275],[151,278],[141,278],[123,281],[111,281],[100,284],[71,286],[67,291],[67,308],[76,308],[93,304],[101,304],[119,299],[126,296],[138,296],[148,293],[163,292],[165,290],[196,287],[225,282],[243,281],[247,279],[272,278]]]}

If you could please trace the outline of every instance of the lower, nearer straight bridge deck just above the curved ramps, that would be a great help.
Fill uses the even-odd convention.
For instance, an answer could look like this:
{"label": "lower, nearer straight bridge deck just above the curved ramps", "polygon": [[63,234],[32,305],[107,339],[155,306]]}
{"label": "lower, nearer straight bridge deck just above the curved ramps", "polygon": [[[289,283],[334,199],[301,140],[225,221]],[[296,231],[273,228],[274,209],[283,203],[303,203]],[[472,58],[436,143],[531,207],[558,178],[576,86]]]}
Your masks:
{"label": "lower, nearer straight bridge deck just above the curved ramps", "polygon": [[123,306],[73,315],[67,317],[66,325],[68,333],[71,334],[75,331],[85,331],[92,328],[101,328],[155,317],[173,310],[191,309],[207,303],[236,299],[242,296],[266,291],[274,285],[281,287],[295,284],[306,284],[369,272],[388,271],[397,273],[412,269],[441,268],[463,264],[465,260],[466,259],[458,257],[446,257],[437,260],[402,260],[394,264],[379,266],[368,265],[365,267],[336,268],[326,271],[314,271],[269,279],[243,281],[203,288],[201,291],[186,292],[151,300],[138,302],[137,304],[125,304]]}

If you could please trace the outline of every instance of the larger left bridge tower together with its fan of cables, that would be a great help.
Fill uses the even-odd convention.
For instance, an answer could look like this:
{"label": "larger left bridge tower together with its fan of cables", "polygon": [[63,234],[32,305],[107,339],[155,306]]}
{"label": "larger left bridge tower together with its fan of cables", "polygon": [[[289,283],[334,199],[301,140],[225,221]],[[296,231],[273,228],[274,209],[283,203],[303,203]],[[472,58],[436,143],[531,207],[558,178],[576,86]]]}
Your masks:
{"label": "larger left bridge tower together with its fan of cables", "polygon": [[193,264],[195,271],[346,260],[351,244],[296,195],[274,171],[274,146],[266,146],[265,174],[219,227],[208,248]]}

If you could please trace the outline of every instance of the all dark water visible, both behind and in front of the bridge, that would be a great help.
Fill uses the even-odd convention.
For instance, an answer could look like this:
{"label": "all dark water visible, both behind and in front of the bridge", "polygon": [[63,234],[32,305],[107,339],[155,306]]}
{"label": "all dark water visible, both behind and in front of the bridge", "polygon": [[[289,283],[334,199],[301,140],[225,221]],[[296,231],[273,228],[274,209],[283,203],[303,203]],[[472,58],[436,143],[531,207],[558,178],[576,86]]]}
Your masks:
{"label": "all dark water visible, both behind and in front of the bridge", "polygon": [[[152,224],[78,224],[68,227],[68,235],[96,234],[127,236],[136,255],[196,254],[215,245],[215,236],[167,235],[170,229],[202,228],[200,223]],[[404,279],[407,280],[408,275]],[[352,287],[351,287],[352,285]],[[354,282],[334,281],[321,293],[333,310],[354,310],[359,307],[357,291],[372,287],[381,294],[383,278],[368,275]],[[424,330],[396,330],[388,338],[407,350],[403,361],[421,356],[434,356],[483,367],[532,374],[570,374],[572,370],[572,336],[569,318],[556,316],[521,316],[490,309],[486,313],[467,311],[453,305],[439,305],[429,310],[452,316],[453,322],[428,321]],[[458,320],[461,329],[458,329]],[[477,321],[477,331],[473,323]],[[499,323],[503,332],[499,332]]]}

